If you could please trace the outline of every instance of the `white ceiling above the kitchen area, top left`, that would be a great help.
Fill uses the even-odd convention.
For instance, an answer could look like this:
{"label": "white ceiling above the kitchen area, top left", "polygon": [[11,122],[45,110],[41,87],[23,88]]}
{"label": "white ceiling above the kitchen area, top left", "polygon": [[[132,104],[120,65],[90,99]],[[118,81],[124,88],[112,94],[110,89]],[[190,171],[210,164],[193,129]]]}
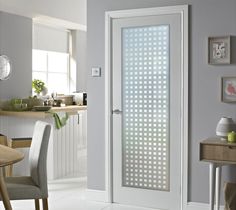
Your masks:
{"label": "white ceiling above the kitchen area, top left", "polygon": [[49,16],[86,25],[86,0],[0,0],[0,10],[27,17]]}

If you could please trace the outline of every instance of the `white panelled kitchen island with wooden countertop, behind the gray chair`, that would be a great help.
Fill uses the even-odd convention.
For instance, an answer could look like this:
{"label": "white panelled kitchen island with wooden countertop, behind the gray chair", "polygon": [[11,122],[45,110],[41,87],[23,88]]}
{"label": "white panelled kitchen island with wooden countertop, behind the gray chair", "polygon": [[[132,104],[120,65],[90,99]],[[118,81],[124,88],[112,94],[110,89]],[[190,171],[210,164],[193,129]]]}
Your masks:
{"label": "white panelled kitchen island with wooden countertop, behind the gray chair", "polygon": [[[14,112],[0,110],[0,133],[8,138],[32,137],[37,120],[50,123],[53,127],[49,141],[47,170],[48,179],[83,176],[86,173],[87,107],[53,107],[50,111],[60,115],[67,112],[69,119],[64,127],[56,129],[52,114],[46,112]],[[25,159],[14,165],[13,175],[28,175],[28,148],[19,149]]]}

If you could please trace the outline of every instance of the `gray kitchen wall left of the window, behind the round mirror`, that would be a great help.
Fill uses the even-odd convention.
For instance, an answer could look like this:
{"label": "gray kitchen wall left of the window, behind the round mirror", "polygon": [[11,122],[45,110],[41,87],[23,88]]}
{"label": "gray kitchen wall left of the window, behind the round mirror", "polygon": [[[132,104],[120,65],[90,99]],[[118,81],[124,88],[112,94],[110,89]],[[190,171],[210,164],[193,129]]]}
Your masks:
{"label": "gray kitchen wall left of the window, behind the round mirror", "polygon": [[31,95],[32,20],[0,12],[0,54],[9,56],[12,75],[0,81],[0,98]]}

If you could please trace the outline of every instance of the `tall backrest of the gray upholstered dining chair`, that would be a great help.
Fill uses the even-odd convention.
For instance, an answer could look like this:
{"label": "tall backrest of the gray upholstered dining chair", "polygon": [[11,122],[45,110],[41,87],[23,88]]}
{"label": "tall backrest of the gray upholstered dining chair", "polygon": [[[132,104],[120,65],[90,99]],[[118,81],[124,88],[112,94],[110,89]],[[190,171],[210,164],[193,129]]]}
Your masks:
{"label": "tall backrest of the gray upholstered dining chair", "polygon": [[47,150],[51,125],[37,121],[29,152],[30,175],[45,196],[47,196]]}

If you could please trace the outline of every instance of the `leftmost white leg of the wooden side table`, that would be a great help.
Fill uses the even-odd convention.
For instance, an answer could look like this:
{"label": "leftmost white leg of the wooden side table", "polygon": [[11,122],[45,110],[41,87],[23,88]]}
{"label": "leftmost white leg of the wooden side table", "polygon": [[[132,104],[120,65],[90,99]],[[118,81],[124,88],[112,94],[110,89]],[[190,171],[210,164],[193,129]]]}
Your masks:
{"label": "leftmost white leg of the wooden side table", "polygon": [[214,210],[214,198],[215,198],[215,170],[216,170],[216,165],[214,163],[210,163],[210,173],[209,173],[209,184],[210,184],[210,189],[209,189],[209,203],[210,203],[210,210]]}

